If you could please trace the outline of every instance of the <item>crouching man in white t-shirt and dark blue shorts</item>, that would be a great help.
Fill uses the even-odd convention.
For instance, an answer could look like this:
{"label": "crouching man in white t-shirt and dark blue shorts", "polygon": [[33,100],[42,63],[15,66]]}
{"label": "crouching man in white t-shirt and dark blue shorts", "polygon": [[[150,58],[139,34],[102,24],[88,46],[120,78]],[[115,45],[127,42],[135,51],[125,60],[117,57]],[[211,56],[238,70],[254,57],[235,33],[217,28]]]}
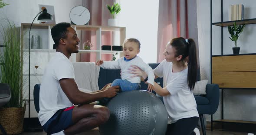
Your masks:
{"label": "crouching man in white t-shirt and dark blue shorts", "polygon": [[48,134],[74,135],[105,123],[110,111],[105,106],[90,104],[103,97],[113,97],[119,87],[108,84],[93,93],[79,91],[74,68],[69,61],[78,52],[79,38],[70,23],[59,23],[51,29],[56,55],[49,61],[39,93],[38,118]]}

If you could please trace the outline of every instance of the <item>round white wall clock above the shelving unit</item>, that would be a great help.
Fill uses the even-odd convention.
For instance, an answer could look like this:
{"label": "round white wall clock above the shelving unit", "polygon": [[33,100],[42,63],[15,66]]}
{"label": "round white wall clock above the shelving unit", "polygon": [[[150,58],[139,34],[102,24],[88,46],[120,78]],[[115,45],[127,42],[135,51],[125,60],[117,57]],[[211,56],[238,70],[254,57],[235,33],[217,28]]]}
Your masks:
{"label": "round white wall clock above the shelving unit", "polygon": [[69,13],[70,20],[76,25],[85,25],[89,22],[91,14],[85,6],[75,6]]}

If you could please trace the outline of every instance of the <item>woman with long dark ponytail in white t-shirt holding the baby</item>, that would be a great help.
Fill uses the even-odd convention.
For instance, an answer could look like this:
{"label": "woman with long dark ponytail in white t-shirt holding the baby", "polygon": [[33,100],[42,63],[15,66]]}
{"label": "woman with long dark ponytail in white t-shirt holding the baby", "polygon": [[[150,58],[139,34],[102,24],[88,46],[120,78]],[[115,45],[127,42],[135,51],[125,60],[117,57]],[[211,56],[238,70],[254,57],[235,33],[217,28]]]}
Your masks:
{"label": "woman with long dark ponytail in white t-shirt holding the baby", "polygon": [[[164,97],[168,113],[166,135],[198,135],[199,115],[192,93],[197,77],[195,42],[193,39],[174,38],[167,43],[164,56],[165,59],[154,69],[155,78],[163,77],[163,88],[154,82],[154,91]],[[133,67],[131,73],[147,80],[144,71]]]}

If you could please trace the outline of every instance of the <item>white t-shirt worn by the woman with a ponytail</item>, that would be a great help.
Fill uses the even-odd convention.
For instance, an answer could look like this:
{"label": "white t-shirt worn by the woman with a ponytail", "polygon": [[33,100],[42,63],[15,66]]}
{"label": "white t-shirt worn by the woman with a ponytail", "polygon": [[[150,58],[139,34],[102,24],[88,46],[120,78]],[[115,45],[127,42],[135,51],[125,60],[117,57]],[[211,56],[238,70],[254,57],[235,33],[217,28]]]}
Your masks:
{"label": "white t-shirt worn by the woman with a ponytail", "polygon": [[163,87],[171,93],[164,96],[164,106],[168,113],[168,124],[179,119],[199,117],[197,103],[187,85],[187,71],[173,73],[172,62],[165,59],[154,69],[154,74],[163,77]]}

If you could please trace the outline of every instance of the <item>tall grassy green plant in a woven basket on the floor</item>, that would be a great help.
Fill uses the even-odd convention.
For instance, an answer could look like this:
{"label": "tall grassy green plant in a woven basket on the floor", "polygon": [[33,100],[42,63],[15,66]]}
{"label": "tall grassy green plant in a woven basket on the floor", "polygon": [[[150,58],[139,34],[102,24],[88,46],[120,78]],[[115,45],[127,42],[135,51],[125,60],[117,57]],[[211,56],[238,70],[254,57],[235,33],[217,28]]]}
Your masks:
{"label": "tall grassy green plant in a woven basket on the floor", "polygon": [[23,103],[23,58],[21,58],[20,29],[7,19],[1,35],[3,46],[0,53],[0,82],[8,84],[11,89],[10,101],[0,108],[0,123],[7,134],[23,132],[23,119],[26,104]]}

